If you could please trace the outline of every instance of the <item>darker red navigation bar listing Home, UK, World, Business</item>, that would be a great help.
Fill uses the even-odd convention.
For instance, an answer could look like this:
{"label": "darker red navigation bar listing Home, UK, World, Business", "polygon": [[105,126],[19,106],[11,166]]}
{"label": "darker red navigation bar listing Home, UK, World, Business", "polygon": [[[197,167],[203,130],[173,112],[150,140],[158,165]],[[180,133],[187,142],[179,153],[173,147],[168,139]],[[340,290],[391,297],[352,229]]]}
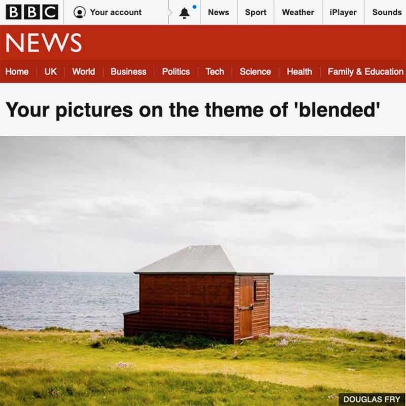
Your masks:
{"label": "darker red navigation bar listing Home, UK, World, Business", "polygon": [[7,61],[0,82],[406,82],[404,61]]}

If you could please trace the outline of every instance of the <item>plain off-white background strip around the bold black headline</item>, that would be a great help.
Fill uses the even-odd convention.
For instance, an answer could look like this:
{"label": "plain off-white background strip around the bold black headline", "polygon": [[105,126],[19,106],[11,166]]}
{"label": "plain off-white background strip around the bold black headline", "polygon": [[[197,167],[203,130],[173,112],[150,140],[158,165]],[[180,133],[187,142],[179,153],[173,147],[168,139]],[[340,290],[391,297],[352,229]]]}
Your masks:
{"label": "plain off-white background strip around the bold black headline", "polygon": [[[0,135],[145,135],[145,136],[251,136],[251,135],[401,135],[405,133],[404,112],[406,99],[404,84],[1,84]],[[46,118],[10,117],[6,101],[19,101],[25,105],[49,105]],[[130,118],[64,118],[55,121],[56,105],[130,105]],[[195,118],[172,118],[167,106],[171,102],[196,105],[200,114]],[[265,114],[261,118],[207,118],[204,104],[216,101],[225,105],[261,105]],[[289,101],[288,117],[273,118],[267,108]],[[324,105],[366,105],[380,101],[374,118],[299,118],[293,108],[294,101]],[[142,105],[161,105],[162,118],[141,118]]]}

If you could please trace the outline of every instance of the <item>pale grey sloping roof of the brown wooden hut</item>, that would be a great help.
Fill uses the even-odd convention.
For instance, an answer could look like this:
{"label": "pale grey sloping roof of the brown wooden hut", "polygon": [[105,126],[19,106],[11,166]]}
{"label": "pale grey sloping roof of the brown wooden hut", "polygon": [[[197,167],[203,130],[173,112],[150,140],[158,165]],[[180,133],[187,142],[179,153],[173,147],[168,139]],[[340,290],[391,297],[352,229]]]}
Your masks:
{"label": "pale grey sloping roof of the brown wooden hut", "polygon": [[135,273],[236,274],[220,245],[189,245],[183,250],[144,266]]}

